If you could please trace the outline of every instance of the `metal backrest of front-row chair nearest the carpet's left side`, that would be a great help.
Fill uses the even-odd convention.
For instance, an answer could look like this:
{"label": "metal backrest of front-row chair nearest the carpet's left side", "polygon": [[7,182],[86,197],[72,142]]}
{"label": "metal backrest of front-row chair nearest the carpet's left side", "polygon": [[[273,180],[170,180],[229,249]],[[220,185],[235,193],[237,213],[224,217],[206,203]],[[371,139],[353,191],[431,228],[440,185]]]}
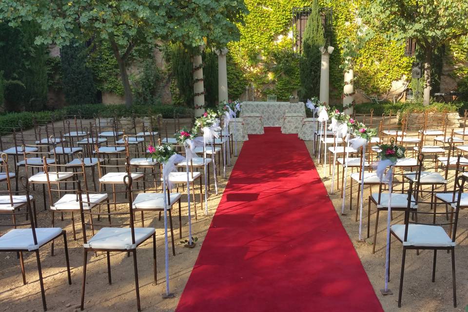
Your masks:
{"label": "metal backrest of front-row chair nearest the carpet's left side", "polygon": [[[132,176],[127,175],[124,177],[124,183],[126,185],[126,190],[125,191],[112,191],[112,192],[106,192],[108,196],[108,201],[104,203],[92,203],[89,201],[89,195],[91,194],[96,194],[96,192],[91,192],[91,191],[84,191],[81,188],[81,182],[78,181],[78,190],[77,190],[77,195],[78,195],[78,201],[79,201],[79,212],[80,212],[80,217],[81,217],[81,229],[83,233],[83,242],[84,244],[87,243],[87,234],[86,234],[86,226],[91,226],[93,231],[94,227],[125,227],[128,226],[131,229],[131,234],[132,234],[132,244],[135,244],[135,225],[134,225],[134,215],[132,211],[132,203],[133,203],[133,193],[132,193]],[[127,194],[127,199],[128,200],[115,200],[111,201],[110,198],[122,198],[124,197],[125,193]],[[83,209],[84,205],[95,205],[96,210],[98,210],[97,213],[94,213],[91,209]],[[103,213],[98,209],[99,205],[106,206],[107,208],[107,213]],[[124,205],[126,207],[123,208],[122,211],[115,211],[111,212],[109,209],[109,206],[111,205]],[[85,215],[89,216],[89,221],[86,221]],[[93,223],[93,216],[95,215],[107,215],[109,218],[109,224],[103,224],[102,222],[99,224]],[[111,216],[129,216],[128,223],[116,223],[116,222],[111,222]],[[125,221],[126,222],[126,221]]]}

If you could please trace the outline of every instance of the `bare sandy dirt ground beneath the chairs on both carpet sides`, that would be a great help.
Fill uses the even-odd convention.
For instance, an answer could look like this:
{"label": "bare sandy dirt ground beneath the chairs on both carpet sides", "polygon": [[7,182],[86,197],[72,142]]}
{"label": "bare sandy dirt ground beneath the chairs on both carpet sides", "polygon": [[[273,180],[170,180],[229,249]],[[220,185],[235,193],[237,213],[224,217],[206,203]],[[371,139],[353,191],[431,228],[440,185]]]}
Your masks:
{"label": "bare sandy dirt ground beneath the chairs on both carpet sides", "polygon": [[[312,142],[306,142],[308,149],[312,154]],[[242,144],[239,144],[240,150]],[[234,165],[236,157],[232,158]],[[316,161],[314,159],[316,163]],[[227,167],[227,176],[233,166]],[[317,170],[322,174],[322,167],[317,164]],[[208,215],[204,215],[201,209],[198,209],[198,220],[193,220],[193,236],[198,238],[194,249],[184,248],[178,238],[178,213],[175,209],[173,220],[176,241],[176,256],[170,255],[170,288],[176,297],[163,299],[165,292],[164,277],[164,230],[163,220],[158,221],[157,215],[146,214],[147,220],[145,226],[156,228],[157,234],[157,285],[153,282],[153,253],[152,242],[148,240],[143,243],[137,252],[138,274],[140,283],[141,308],[144,311],[174,311],[180,294],[185,287],[190,272],[195,264],[195,260],[203,244],[207,229],[211,223],[216,207],[220,201],[221,195],[226,186],[227,179],[219,177],[219,194],[214,194],[214,185],[209,195]],[[330,179],[324,181],[325,186],[330,190]],[[213,180],[212,180],[213,183]],[[6,189],[2,185],[1,190]],[[187,196],[184,192],[182,196],[182,225],[184,238],[187,237]],[[198,190],[196,190],[198,195]],[[356,193],[355,193],[356,194]],[[369,194],[366,188],[364,198]],[[38,220],[40,227],[51,225],[50,211],[44,211],[42,203],[42,190],[36,188],[33,195],[38,203]],[[356,196],[356,195],[354,195]],[[198,200],[197,196],[197,200]],[[432,252],[422,251],[419,256],[415,252],[409,251],[407,254],[407,264],[405,271],[405,283],[403,291],[402,308],[397,308],[399,272],[401,266],[401,244],[393,239],[391,253],[391,275],[390,289],[393,295],[383,296],[380,289],[384,286],[385,273],[385,224],[386,213],[381,216],[378,230],[378,240],[376,253],[371,254],[373,225],[375,222],[375,208],[371,215],[371,236],[366,243],[358,243],[358,223],[354,221],[354,210],[349,211],[348,198],[346,205],[347,215],[340,215],[341,198],[340,193],[331,195],[331,200],[335,206],[344,228],[354,244],[363,266],[369,276],[370,282],[380,299],[382,306],[387,312],[396,311],[465,311],[468,305],[468,267],[466,259],[468,257],[468,211],[462,211],[460,214],[459,230],[457,233],[456,247],[456,270],[457,270],[457,298],[458,308],[452,306],[452,288],[451,288],[451,268],[449,254],[439,252],[437,257],[436,282],[431,283],[432,270]],[[355,202],[356,200],[354,200]],[[364,202],[364,223],[363,232],[366,234],[367,226],[367,200]],[[353,208],[354,209],[354,208]],[[392,223],[402,223],[402,214],[395,213]],[[77,218],[78,219],[78,218]],[[139,226],[139,216],[137,216],[137,226]],[[5,218],[0,216],[0,222],[6,222]],[[0,223],[1,224],[1,223]],[[56,226],[64,228],[68,233],[68,248],[70,254],[70,265],[72,272],[72,285],[68,285],[66,277],[65,257],[63,253],[63,243],[58,240],[55,244],[55,256],[50,255],[49,246],[44,246],[40,250],[42,273],[44,276],[44,286],[46,290],[47,307],[49,311],[79,311],[79,300],[81,292],[82,266],[83,266],[83,248],[82,236],[77,222],[77,240],[73,240],[70,214],[64,215],[64,221],[56,217]],[[0,228],[4,231],[4,228]],[[20,274],[19,260],[15,253],[0,254],[0,311],[42,311],[39,277],[37,273],[37,262],[34,254],[25,254],[26,279],[28,284],[23,285]],[[89,255],[85,311],[136,311],[135,280],[133,273],[133,257],[127,257],[126,253],[111,253],[112,266],[112,285],[107,281],[106,257],[103,253]],[[343,263],[346,266],[346,263]],[[293,285],[292,285],[293,286]]]}

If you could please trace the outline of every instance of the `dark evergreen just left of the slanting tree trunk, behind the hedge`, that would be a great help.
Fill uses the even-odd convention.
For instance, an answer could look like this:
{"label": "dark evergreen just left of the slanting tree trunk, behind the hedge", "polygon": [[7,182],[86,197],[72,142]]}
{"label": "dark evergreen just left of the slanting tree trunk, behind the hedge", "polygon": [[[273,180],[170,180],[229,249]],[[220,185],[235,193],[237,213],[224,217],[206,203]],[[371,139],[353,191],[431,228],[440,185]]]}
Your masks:
{"label": "dark evergreen just left of the slanting tree trunk, behind the hedge", "polygon": [[86,66],[86,47],[72,42],[60,50],[63,93],[69,105],[97,102],[93,73]]}

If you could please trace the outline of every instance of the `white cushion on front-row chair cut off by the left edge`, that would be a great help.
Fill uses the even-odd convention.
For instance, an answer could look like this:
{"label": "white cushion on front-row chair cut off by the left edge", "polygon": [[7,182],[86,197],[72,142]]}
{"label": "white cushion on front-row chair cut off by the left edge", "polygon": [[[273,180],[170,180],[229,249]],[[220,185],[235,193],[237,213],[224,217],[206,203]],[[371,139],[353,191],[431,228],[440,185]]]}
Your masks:
{"label": "white cushion on front-row chair cut off by the left edge", "polygon": [[60,228],[37,228],[36,238],[38,244],[34,245],[33,231],[31,229],[10,230],[0,237],[0,250],[37,250],[40,246],[62,233]]}

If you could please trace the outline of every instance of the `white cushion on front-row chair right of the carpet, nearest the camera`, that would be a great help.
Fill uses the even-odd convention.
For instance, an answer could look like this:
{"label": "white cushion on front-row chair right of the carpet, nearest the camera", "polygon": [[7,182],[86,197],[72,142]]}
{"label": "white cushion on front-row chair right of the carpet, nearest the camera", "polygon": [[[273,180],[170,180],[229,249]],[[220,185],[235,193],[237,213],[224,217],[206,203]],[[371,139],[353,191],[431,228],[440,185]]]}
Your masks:
{"label": "white cushion on front-row chair right of the carpet, nearest the camera", "polygon": [[[392,225],[390,229],[401,241],[405,239],[404,224]],[[455,246],[455,243],[441,226],[409,224],[408,239],[403,241],[403,246],[450,247]]]}

